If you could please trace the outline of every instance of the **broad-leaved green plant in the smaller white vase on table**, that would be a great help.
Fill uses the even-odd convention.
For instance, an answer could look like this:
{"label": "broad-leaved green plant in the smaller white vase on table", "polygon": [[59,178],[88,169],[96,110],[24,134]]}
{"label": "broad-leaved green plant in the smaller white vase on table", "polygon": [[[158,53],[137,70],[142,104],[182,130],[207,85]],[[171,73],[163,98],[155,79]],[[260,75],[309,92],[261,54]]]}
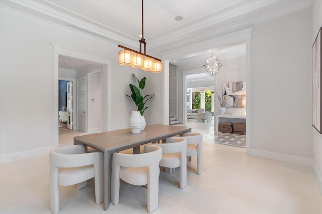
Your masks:
{"label": "broad-leaved green plant in the smaller white vase on table", "polygon": [[133,84],[130,84],[130,89],[131,89],[131,96],[130,95],[127,95],[125,94],[126,96],[132,98],[135,106],[136,106],[136,110],[138,112],[140,112],[140,115],[142,116],[142,120],[143,120],[143,127],[142,127],[142,130],[144,130],[145,128],[145,119],[144,119],[144,116],[143,116],[143,113],[145,111],[145,109],[147,109],[148,107],[146,106],[144,108],[144,105],[146,103],[146,101],[148,101],[149,99],[152,98],[152,96],[154,96],[154,94],[148,94],[148,95],[145,95],[144,97],[142,96],[142,91],[145,87],[145,80],[146,80],[146,77],[143,77],[141,80],[138,80],[137,77],[132,74],[135,79],[137,80],[138,84],[139,84],[139,87],[137,88],[135,85]]}

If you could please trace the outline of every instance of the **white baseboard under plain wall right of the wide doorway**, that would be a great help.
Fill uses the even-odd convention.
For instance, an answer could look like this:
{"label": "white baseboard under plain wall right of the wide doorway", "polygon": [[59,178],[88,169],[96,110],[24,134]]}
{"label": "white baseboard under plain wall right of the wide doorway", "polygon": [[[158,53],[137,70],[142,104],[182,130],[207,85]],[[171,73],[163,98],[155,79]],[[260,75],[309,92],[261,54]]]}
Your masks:
{"label": "white baseboard under plain wall right of the wide doorway", "polygon": [[262,157],[271,160],[293,163],[301,166],[313,167],[313,158],[300,157],[296,155],[283,154],[271,151],[251,149],[251,156]]}

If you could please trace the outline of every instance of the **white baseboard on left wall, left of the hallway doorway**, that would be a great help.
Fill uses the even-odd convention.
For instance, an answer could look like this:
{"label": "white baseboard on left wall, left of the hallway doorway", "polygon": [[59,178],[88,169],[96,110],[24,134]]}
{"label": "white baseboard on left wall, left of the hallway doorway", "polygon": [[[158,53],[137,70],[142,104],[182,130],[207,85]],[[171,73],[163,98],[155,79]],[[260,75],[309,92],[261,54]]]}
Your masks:
{"label": "white baseboard on left wall, left of the hallway doorway", "polygon": [[49,154],[49,151],[54,148],[54,146],[48,146],[44,148],[39,149],[31,149],[27,151],[21,151],[21,152],[14,152],[9,154],[2,154],[0,155],[0,163],[20,160],[28,157],[34,157],[44,154]]}

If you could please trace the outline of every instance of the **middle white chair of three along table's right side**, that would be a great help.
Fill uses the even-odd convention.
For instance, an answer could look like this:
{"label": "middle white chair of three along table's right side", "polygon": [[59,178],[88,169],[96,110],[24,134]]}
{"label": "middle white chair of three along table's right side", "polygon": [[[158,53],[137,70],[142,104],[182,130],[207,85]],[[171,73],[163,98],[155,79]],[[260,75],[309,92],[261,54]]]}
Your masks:
{"label": "middle white chair of three along table's right side", "polygon": [[187,140],[183,137],[168,137],[166,143],[155,144],[162,147],[162,159],[159,165],[173,169],[180,167],[180,188],[187,185]]}

